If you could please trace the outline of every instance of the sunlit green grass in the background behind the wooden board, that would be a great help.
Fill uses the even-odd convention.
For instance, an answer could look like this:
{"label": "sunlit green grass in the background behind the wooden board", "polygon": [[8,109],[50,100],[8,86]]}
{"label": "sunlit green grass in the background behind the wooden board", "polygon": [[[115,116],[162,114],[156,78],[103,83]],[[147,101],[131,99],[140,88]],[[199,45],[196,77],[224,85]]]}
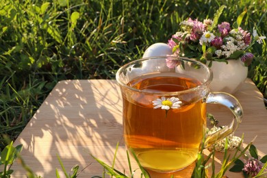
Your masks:
{"label": "sunlit green grass in the background behind the wooden board", "polygon": [[[62,79],[114,79],[149,45],[168,42],[179,23],[213,17],[267,36],[265,0],[3,0],[0,3],[0,149],[16,139]],[[267,49],[255,45],[249,77],[267,98]]]}

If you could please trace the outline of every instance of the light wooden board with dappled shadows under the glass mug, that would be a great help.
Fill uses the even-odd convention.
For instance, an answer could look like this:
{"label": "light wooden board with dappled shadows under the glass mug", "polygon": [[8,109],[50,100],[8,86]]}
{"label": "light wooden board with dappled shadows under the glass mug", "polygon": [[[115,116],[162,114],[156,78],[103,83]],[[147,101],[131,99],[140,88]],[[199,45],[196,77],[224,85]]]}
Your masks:
{"label": "light wooden board with dappled shadows under the glass mug", "polygon": [[[260,155],[267,153],[267,110],[262,94],[250,79],[234,94],[244,109],[243,122],[236,136],[245,134],[245,143],[257,135],[255,145]],[[227,109],[209,105],[211,112],[224,123],[231,117]],[[57,155],[67,172],[76,164],[79,177],[102,176],[103,168],[90,154],[112,165],[116,144],[119,143],[115,168],[129,173],[127,154],[123,142],[122,100],[114,80],[60,81],[40,106],[15,144],[23,144],[22,157],[36,175],[55,177],[58,168],[64,177]],[[207,151],[208,152],[208,151]],[[216,170],[220,168],[222,154],[216,154]],[[138,166],[132,160],[133,168]],[[175,177],[190,177],[194,165],[175,173]],[[16,162],[13,177],[26,177],[21,164]],[[152,177],[170,177],[152,173]],[[241,174],[227,173],[229,177]],[[136,175],[136,177],[139,177]]]}

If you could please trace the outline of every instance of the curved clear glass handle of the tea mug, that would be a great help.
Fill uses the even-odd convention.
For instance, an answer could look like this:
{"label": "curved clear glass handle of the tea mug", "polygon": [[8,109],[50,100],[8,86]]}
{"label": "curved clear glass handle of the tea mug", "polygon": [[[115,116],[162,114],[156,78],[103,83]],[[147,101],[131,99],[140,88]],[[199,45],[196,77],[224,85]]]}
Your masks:
{"label": "curved clear glass handle of the tea mug", "polygon": [[205,102],[225,105],[229,108],[229,110],[231,110],[234,116],[232,122],[229,125],[225,126],[219,131],[216,131],[215,133],[212,133],[211,135],[207,135],[204,144],[207,148],[210,145],[215,144],[218,140],[229,136],[231,133],[233,133],[233,131],[236,131],[242,121],[243,109],[238,99],[226,92],[210,92],[205,99]]}

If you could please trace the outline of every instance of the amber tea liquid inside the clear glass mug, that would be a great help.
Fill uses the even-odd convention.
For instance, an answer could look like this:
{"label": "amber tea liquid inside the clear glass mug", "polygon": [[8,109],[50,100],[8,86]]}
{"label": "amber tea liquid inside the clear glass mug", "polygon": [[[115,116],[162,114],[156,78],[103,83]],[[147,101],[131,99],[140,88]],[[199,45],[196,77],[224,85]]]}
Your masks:
{"label": "amber tea liquid inside the clear glass mug", "polygon": [[[201,98],[178,97],[181,107],[153,109],[153,100],[161,98],[147,92],[177,92],[199,86],[199,81],[179,76],[146,75],[128,86],[144,92],[123,94],[123,125],[127,147],[135,151],[144,168],[173,172],[192,164],[197,157],[206,125],[205,103]],[[166,96],[166,98],[170,98]]]}

